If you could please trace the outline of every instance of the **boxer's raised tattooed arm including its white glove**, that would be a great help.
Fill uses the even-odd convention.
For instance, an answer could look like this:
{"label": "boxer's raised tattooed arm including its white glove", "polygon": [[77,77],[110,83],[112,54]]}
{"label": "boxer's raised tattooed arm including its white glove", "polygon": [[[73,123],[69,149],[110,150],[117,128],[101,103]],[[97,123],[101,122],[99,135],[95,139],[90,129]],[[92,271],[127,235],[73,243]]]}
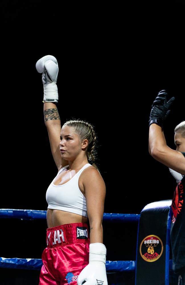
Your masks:
{"label": "boxer's raised tattooed arm including its white glove", "polygon": [[43,56],[36,62],[36,69],[42,73],[42,83],[44,86],[44,122],[48,130],[52,155],[59,170],[68,164],[67,160],[61,158],[59,149],[61,122],[56,107],[58,102],[57,76],[58,63],[54,56]]}

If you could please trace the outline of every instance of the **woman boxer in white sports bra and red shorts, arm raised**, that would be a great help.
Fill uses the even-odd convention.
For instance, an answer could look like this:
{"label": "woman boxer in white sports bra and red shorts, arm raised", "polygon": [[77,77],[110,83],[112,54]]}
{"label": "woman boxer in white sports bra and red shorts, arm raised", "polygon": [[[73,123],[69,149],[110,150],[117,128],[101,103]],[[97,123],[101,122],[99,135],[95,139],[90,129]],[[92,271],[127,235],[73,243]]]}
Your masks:
{"label": "woman boxer in white sports bra and red shorts, arm raised", "polygon": [[[107,285],[102,228],[106,187],[94,162],[96,135],[93,126],[81,120],[67,121],[61,128],[55,105],[56,58],[40,58],[36,69],[42,73],[44,120],[58,171],[46,192],[47,247],[39,285]],[[69,99],[63,97],[68,112]]]}

